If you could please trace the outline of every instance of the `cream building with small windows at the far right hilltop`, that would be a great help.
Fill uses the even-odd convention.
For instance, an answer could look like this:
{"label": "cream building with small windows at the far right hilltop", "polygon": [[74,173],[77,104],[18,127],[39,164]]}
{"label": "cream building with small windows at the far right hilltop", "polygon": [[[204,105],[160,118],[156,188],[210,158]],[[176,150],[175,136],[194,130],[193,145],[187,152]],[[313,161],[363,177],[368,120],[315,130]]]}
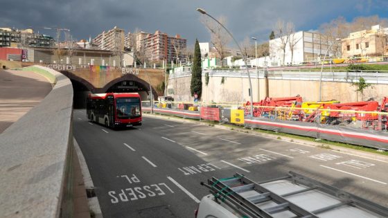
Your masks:
{"label": "cream building with small windows at the far right hilltop", "polygon": [[379,25],[371,30],[350,33],[342,39],[342,57],[365,57],[388,55],[388,28]]}

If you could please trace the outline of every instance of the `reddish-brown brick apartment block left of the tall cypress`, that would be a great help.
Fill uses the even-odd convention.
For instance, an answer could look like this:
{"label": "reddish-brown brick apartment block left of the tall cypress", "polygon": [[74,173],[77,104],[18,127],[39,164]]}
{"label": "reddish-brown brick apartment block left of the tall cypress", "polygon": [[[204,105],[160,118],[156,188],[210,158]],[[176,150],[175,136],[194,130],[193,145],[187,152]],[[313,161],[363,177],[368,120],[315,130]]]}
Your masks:
{"label": "reddish-brown brick apartment block left of the tall cypress", "polygon": [[155,34],[148,34],[141,40],[141,46],[144,46],[145,57],[150,62],[186,62],[186,39],[175,35],[170,37],[159,30]]}

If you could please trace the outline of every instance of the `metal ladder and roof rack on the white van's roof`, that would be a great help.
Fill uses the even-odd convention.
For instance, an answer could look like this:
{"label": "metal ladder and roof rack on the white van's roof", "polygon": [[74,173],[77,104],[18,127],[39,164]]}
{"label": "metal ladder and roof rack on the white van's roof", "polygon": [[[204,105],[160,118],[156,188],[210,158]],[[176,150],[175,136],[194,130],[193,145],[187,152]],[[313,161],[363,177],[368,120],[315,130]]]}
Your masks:
{"label": "metal ladder and roof rack on the white van's roof", "polygon": [[[306,188],[278,195],[270,190],[267,190],[267,188],[263,187],[263,185],[247,179],[243,174],[238,173],[236,173],[233,177],[225,179],[216,179],[212,177],[212,179],[208,180],[207,184],[201,184],[210,189],[210,192],[215,197],[215,201],[222,201],[227,204],[227,206],[240,213],[242,217],[274,217],[274,214],[278,212],[288,211],[292,212],[292,214],[289,213],[290,217],[313,218],[317,217],[317,214],[321,212],[334,210],[335,208],[347,204],[365,208],[377,213],[378,215],[382,215],[383,217],[388,215],[387,208],[294,172],[289,172],[288,176],[264,181],[262,183],[270,183],[272,181],[279,181],[283,179],[301,184]],[[302,192],[308,192],[315,189],[321,192],[326,192],[330,195],[342,195],[341,202],[333,206],[327,206],[325,208],[309,212],[308,210],[305,210],[285,199],[285,197],[290,195],[300,194]],[[265,203],[266,201],[274,201],[276,206],[267,208],[261,208],[258,206],[258,204]]]}

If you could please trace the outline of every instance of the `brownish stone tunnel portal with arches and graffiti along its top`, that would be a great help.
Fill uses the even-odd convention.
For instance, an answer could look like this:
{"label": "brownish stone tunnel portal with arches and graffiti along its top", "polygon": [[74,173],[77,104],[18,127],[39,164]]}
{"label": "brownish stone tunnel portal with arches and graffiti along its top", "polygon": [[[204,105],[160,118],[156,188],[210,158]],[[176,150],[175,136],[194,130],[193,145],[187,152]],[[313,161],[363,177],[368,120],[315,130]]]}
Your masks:
{"label": "brownish stone tunnel portal with arches and graffiti along its top", "polygon": [[141,100],[157,100],[163,96],[165,71],[163,69],[118,68],[113,66],[78,66],[50,64],[51,69],[60,71],[71,80],[74,90],[74,108],[85,108],[89,93],[137,92]]}

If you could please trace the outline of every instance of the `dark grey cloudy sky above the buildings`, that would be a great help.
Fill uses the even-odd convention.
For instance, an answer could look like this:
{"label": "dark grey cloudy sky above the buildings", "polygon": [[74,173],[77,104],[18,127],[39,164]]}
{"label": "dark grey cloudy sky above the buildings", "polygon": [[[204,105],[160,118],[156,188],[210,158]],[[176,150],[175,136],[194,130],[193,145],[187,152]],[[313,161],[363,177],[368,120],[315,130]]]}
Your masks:
{"label": "dark grey cloudy sky above the buildings", "polygon": [[131,32],[138,28],[168,35],[180,34],[193,44],[209,42],[209,32],[195,8],[227,18],[227,28],[238,41],[267,40],[278,19],[292,21],[296,30],[316,30],[339,16],[388,17],[388,0],[0,0],[0,27],[69,28],[74,38],[88,39],[114,26]]}

